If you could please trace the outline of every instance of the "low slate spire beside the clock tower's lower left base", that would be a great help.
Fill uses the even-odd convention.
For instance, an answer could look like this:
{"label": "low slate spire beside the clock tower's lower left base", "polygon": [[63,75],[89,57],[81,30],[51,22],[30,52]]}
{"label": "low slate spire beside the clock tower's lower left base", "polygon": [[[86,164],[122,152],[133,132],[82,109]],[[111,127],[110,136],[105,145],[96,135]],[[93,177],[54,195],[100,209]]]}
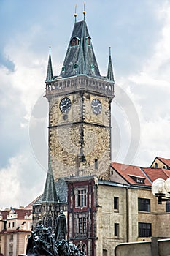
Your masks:
{"label": "low slate spire beside the clock tower's lower left base", "polygon": [[47,178],[45,182],[45,189],[42,195],[42,202],[57,203],[58,197],[55,189],[55,181],[53,177],[53,171],[51,168],[51,162],[49,163],[49,170],[47,172]]}

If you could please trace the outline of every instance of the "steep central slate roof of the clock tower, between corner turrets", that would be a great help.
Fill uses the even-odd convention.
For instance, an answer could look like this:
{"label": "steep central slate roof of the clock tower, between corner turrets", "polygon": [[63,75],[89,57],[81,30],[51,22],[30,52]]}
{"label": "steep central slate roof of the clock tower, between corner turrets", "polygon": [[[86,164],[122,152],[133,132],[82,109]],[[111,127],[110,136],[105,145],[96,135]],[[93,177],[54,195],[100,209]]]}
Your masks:
{"label": "steep central slate roof of the clock tower, between corner turrets", "polygon": [[[73,38],[77,38],[78,45],[71,45]],[[66,57],[63,62],[62,78],[69,78],[74,75],[91,75],[93,77],[101,77],[96,57],[93,51],[93,46],[90,41],[88,45],[88,27],[85,20],[76,22],[72,31],[72,37],[69,42],[69,47],[66,52]],[[77,67],[75,68],[75,64]]]}

